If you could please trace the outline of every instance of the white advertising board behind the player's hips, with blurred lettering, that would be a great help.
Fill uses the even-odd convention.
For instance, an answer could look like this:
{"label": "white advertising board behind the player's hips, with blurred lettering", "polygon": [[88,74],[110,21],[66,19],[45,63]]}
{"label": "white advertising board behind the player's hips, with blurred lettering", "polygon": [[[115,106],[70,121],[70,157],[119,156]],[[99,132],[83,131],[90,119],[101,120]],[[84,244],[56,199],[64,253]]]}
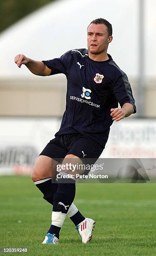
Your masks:
{"label": "white advertising board behind the player's hips, with blurred lettering", "polygon": [[[30,174],[60,123],[59,118],[0,118],[0,174]],[[100,157],[156,158],[156,120],[114,122]]]}

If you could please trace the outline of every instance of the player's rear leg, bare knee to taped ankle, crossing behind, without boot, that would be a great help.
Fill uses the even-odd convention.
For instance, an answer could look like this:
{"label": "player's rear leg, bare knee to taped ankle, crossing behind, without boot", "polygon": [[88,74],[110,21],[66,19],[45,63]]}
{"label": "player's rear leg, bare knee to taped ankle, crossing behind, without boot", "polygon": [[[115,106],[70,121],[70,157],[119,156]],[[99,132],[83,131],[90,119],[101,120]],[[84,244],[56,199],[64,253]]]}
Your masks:
{"label": "player's rear leg, bare knee to taped ankle, crossing behind, without boot", "polygon": [[[44,199],[53,205],[54,193],[57,191],[57,164],[51,157],[63,158],[67,154],[67,149],[60,147],[60,143],[56,138],[47,144],[37,159],[37,162],[33,168],[32,180],[34,184],[40,189],[44,195]],[[53,153],[52,153],[53,152]],[[55,154],[54,154],[55,152]],[[48,156],[42,155],[47,154]],[[50,157],[51,156],[51,157]],[[84,216],[79,212],[77,207],[72,203],[67,212],[68,217],[72,220],[74,225],[77,225],[80,221],[84,220]]]}

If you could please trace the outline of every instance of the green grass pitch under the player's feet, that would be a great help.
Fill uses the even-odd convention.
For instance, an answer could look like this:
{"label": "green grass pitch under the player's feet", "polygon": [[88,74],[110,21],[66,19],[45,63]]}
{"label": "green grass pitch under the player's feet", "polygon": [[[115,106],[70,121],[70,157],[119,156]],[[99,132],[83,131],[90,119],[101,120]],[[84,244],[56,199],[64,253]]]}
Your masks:
{"label": "green grass pitch under the player's feet", "polygon": [[42,245],[51,205],[30,177],[1,177],[0,247],[27,247],[26,255],[32,256],[156,255],[155,184],[77,184],[74,202],[84,216],[97,221],[91,243],[81,243],[67,217],[59,244]]}

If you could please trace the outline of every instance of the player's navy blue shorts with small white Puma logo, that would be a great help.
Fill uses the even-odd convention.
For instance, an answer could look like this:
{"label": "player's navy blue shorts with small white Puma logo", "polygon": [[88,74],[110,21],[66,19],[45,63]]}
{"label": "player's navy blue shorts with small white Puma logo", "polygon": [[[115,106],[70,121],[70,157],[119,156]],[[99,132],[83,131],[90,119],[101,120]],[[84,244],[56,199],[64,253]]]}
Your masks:
{"label": "player's navy blue shorts with small white Puma logo", "polygon": [[84,164],[94,164],[102,154],[104,147],[98,141],[91,140],[81,133],[58,135],[43,149],[40,155],[62,163],[68,154],[78,156]]}

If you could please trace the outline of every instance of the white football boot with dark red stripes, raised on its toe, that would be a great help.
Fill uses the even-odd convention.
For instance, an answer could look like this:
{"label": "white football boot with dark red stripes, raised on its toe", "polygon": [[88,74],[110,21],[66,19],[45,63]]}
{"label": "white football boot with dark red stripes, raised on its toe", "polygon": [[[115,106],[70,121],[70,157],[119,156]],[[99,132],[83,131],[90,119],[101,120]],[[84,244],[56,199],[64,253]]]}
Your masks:
{"label": "white football boot with dark red stripes, raised on its toe", "polygon": [[76,229],[79,232],[79,235],[82,238],[82,243],[87,243],[92,240],[92,231],[96,222],[92,219],[85,218],[82,222],[80,222]]}

